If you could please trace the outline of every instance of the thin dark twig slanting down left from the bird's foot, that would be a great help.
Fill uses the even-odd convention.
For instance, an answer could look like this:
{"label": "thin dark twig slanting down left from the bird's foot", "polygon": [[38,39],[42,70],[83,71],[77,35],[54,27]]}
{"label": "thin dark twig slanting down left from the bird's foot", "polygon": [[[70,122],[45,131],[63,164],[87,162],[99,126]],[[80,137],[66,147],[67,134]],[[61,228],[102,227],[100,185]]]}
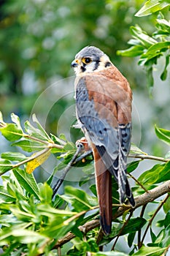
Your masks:
{"label": "thin dark twig slanting down left from the bird's foot", "polygon": [[75,159],[77,158],[78,154],[82,151],[83,145],[82,143],[77,144],[77,151],[72,157],[72,160],[69,162],[68,165],[66,165],[66,168],[63,170],[63,174],[61,178],[58,179],[57,183],[53,187],[53,197],[58,192],[59,187],[61,187],[61,184],[63,183],[64,178],[66,177],[66,174],[69,172],[69,170],[72,168],[72,165],[74,165]]}

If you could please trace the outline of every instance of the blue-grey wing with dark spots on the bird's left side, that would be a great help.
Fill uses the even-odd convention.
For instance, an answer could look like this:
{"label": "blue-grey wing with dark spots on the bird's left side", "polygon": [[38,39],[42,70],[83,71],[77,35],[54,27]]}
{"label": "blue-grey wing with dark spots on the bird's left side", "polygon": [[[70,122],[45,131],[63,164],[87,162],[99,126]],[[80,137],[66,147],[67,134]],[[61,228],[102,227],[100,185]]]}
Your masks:
{"label": "blue-grey wing with dark spots on the bird's left side", "polygon": [[[96,91],[94,91],[96,93]],[[98,91],[98,97],[102,94]],[[85,79],[81,78],[76,89],[77,119],[82,124],[82,130],[88,136],[100,154],[103,155],[103,148],[106,149],[109,159],[113,162],[119,153],[118,128],[112,127],[107,118],[101,118],[96,110],[97,102],[89,99]],[[105,105],[100,104],[100,110],[107,111]],[[110,113],[110,118],[112,113]],[[111,160],[112,159],[112,160]]]}

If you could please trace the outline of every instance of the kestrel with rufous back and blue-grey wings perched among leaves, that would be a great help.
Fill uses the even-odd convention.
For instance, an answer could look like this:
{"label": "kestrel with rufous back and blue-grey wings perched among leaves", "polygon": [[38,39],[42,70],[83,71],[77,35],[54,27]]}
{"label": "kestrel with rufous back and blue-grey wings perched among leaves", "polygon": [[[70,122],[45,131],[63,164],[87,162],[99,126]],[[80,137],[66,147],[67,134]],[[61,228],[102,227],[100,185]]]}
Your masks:
{"label": "kestrel with rufous back and blue-grey wings perched among leaves", "polygon": [[74,81],[77,127],[93,151],[101,229],[112,230],[112,176],[118,184],[120,203],[127,197],[135,206],[127,178],[127,156],[131,147],[132,91],[106,53],[86,46],[71,66]]}

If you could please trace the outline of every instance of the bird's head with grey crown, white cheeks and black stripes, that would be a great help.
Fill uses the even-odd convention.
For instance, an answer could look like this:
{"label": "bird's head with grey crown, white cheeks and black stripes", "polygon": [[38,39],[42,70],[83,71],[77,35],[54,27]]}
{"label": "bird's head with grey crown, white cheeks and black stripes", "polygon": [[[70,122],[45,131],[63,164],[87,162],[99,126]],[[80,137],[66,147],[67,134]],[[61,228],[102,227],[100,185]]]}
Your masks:
{"label": "bird's head with grey crown, white cheeks and black stripes", "polygon": [[112,66],[109,57],[94,46],[87,46],[80,50],[72,61],[76,75],[103,70],[109,66]]}

